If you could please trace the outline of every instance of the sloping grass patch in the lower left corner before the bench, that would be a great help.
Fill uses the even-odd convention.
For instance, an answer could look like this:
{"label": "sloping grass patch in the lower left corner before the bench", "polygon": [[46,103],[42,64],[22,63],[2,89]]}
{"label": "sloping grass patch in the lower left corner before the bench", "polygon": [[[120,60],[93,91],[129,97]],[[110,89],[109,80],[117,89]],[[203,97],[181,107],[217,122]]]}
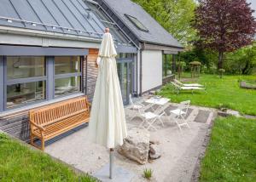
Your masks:
{"label": "sloping grass patch in the lower left corner before the bench", "polygon": [[80,175],[41,151],[0,134],[0,181],[96,181]]}

